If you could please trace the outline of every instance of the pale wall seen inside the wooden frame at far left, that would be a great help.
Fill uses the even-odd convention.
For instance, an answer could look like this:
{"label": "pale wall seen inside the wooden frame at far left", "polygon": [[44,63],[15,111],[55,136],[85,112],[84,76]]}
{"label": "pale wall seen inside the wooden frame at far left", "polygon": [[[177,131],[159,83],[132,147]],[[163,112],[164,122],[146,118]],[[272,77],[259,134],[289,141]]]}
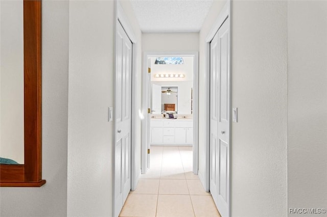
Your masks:
{"label": "pale wall seen inside the wooden frame at far left", "polygon": [[22,1],[1,1],[0,156],[24,164]]}

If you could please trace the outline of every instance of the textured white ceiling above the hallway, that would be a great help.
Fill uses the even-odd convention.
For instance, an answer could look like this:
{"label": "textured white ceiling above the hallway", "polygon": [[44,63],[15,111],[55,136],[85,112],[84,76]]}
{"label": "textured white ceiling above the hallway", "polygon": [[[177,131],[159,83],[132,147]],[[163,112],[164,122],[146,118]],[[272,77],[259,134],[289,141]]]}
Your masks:
{"label": "textured white ceiling above the hallway", "polygon": [[144,33],[199,32],[214,0],[131,0]]}

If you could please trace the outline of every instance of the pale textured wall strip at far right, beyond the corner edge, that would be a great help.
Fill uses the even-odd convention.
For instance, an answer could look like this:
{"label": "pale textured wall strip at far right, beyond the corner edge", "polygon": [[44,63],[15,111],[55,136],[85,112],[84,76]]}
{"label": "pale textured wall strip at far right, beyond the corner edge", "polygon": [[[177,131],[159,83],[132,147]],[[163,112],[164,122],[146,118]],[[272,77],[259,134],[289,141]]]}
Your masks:
{"label": "pale textured wall strip at far right, beyond the corner edge", "polygon": [[326,60],[327,2],[289,1],[288,208],[326,208]]}

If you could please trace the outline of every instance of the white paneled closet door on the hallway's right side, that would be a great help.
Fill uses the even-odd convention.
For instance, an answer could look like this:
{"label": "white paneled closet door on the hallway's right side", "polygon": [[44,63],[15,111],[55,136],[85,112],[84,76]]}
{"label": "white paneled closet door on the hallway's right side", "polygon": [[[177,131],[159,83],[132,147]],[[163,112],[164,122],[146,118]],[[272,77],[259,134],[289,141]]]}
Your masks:
{"label": "white paneled closet door on the hallway's right side", "polygon": [[229,216],[229,18],[211,42],[210,183],[222,216]]}

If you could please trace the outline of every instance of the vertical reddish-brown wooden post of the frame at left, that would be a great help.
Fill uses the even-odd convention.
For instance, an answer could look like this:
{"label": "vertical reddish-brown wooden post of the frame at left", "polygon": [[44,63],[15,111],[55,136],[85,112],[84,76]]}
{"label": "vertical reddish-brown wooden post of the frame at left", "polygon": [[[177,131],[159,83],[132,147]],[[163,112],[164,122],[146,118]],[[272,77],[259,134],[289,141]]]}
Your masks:
{"label": "vertical reddish-brown wooden post of the frame at left", "polygon": [[25,181],[37,181],[42,129],[40,1],[24,1],[24,84]]}

